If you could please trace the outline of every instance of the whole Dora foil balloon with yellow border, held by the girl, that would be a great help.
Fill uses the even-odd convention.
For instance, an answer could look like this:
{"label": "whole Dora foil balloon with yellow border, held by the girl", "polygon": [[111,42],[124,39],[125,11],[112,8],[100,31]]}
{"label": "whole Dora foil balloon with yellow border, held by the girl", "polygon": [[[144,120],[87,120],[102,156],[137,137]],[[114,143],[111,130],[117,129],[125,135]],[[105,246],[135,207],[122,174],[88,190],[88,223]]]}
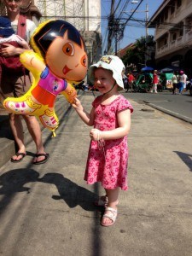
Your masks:
{"label": "whole Dora foil balloon with yellow border, held by the girl", "polygon": [[24,96],[9,97],[3,102],[11,113],[35,115],[50,131],[59,125],[55,114],[58,94],[73,103],[79,84],[87,72],[84,41],[78,30],[65,20],[48,20],[33,33],[32,50],[20,55],[22,64],[31,71],[33,83]]}

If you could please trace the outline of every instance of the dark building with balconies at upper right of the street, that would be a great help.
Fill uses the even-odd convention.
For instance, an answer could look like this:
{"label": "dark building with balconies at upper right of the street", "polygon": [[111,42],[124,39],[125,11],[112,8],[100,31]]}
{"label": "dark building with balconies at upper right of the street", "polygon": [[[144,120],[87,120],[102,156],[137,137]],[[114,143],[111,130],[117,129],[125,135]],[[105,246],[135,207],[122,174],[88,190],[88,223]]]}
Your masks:
{"label": "dark building with balconies at upper right of the street", "polygon": [[165,0],[148,21],[155,28],[158,67],[192,69],[192,1]]}

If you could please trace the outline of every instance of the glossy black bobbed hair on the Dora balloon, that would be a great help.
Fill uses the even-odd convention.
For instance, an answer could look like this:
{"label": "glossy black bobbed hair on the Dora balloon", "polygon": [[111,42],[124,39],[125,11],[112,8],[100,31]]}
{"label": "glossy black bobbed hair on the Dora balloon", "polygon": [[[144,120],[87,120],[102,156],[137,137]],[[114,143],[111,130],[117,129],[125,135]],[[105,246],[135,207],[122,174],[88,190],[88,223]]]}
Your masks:
{"label": "glossy black bobbed hair on the Dora balloon", "polygon": [[84,40],[81,38],[79,31],[65,20],[51,20],[47,22],[38,32],[35,32],[32,36],[32,41],[44,57],[54,39],[63,37],[65,32],[68,32],[67,35],[71,41],[80,46],[84,45]]}

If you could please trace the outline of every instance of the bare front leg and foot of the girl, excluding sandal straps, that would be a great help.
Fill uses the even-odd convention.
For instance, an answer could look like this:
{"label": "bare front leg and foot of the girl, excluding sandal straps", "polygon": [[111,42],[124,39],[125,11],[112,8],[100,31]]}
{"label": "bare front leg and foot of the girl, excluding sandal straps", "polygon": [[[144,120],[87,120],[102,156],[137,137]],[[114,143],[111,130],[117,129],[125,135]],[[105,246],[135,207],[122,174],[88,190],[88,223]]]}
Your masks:
{"label": "bare front leg and foot of the girl, excluding sandal straps", "polygon": [[[108,207],[113,208],[114,210],[117,210],[117,204],[118,204],[118,198],[119,198],[119,188],[116,189],[105,189],[106,195],[108,196]],[[110,213],[108,209],[106,209],[104,214]],[[102,224],[111,224],[113,221],[108,218],[104,217],[102,218]]]}

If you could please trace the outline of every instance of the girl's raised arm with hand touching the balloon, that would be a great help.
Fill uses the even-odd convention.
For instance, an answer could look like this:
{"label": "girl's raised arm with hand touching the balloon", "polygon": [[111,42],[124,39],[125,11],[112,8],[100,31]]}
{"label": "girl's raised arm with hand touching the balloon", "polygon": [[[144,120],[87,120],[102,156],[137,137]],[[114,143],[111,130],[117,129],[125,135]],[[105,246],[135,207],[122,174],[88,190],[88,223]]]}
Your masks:
{"label": "girl's raised arm with hand touching the balloon", "polygon": [[79,117],[84,121],[86,125],[92,126],[94,120],[94,108],[91,109],[90,113],[87,113],[79,99],[75,98],[72,104],[73,108],[79,114]]}

